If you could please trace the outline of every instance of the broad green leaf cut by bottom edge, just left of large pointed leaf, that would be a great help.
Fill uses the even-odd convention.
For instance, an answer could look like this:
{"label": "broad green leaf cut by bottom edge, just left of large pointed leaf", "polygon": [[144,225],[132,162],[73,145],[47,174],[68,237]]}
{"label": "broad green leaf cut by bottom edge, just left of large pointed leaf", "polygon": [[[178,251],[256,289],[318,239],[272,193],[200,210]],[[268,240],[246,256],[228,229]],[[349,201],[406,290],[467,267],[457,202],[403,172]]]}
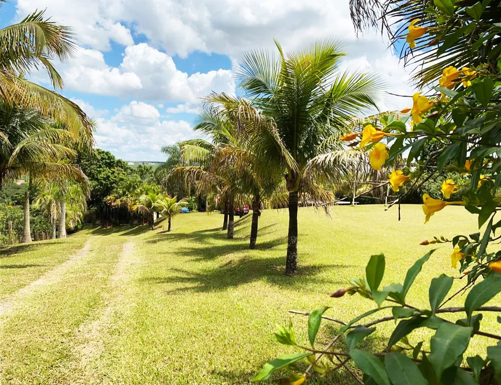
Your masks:
{"label": "broad green leaf cut by bottom edge, just left of large pointed leaf", "polygon": [[428,385],[417,365],[403,354],[386,354],[384,365],[393,385]]}

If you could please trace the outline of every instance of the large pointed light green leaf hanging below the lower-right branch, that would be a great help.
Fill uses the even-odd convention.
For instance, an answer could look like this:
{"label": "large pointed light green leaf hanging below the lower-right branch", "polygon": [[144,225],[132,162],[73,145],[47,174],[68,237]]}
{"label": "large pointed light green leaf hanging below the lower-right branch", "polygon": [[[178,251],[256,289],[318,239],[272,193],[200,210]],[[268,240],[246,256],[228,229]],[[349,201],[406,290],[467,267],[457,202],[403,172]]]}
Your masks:
{"label": "large pointed light green leaf hanging below the lower-right branch", "polygon": [[444,322],[431,337],[430,362],[438,378],[446,368],[454,365],[457,358],[466,350],[472,331],[472,327]]}

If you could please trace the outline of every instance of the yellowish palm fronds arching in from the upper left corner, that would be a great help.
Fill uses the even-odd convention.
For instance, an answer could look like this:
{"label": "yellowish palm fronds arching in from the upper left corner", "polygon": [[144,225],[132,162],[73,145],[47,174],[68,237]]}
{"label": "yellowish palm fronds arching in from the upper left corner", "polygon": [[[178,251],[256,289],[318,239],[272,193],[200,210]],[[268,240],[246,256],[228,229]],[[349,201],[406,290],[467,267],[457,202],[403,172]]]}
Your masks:
{"label": "yellowish palm fronds arching in from the upper left corner", "polygon": [[[2,3],[6,0],[0,0]],[[92,141],[92,124],[77,104],[22,76],[43,68],[55,90],[62,89],[63,79],[52,61],[66,62],[73,57],[73,39],[72,30],[51,22],[45,11],[0,29],[0,97],[8,104],[35,108],[41,115],[65,124],[75,139],[83,135]]]}

